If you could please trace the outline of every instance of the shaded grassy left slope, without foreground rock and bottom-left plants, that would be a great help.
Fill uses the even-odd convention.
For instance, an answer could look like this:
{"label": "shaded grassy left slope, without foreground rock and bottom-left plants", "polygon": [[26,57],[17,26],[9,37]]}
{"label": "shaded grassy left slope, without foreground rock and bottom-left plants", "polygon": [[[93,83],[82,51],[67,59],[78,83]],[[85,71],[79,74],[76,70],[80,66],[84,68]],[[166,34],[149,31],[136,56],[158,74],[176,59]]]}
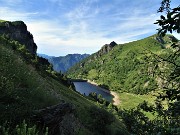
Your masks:
{"label": "shaded grassy left slope, without foreground rock and bottom-left plants", "polygon": [[[19,51],[13,49],[17,45]],[[81,123],[78,134],[102,134],[103,131],[98,131],[100,128],[97,129],[95,124],[101,122],[101,117],[113,117],[57,79],[43,74],[42,67],[41,70],[36,69],[28,60],[29,54],[20,55],[21,51],[25,51],[23,46],[0,37],[0,125],[5,121],[16,125],[24,119],[29,120],[34,110],[59,104],[63,100],[75,106],[74,115]],[[100,115],[97,117],[96,113]],[[107,128],[109,134],[128,134],[117,119]]]}

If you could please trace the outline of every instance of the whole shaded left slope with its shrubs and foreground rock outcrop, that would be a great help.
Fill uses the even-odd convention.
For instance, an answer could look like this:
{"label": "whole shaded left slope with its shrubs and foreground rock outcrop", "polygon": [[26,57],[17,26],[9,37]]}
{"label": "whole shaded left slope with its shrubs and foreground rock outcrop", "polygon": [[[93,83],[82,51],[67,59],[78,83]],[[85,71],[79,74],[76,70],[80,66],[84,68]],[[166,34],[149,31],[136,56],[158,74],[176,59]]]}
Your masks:
{"label": "whole shaded left slope with its shrubs and foreground rock outcrop", "polygon": [[0,134],[28,134],[27,125],[16,126],[23,120],[39,131],[49,127],[50,135],[128,134],[121,121],[74,91],[63,74],[28,49],[0,36]]}

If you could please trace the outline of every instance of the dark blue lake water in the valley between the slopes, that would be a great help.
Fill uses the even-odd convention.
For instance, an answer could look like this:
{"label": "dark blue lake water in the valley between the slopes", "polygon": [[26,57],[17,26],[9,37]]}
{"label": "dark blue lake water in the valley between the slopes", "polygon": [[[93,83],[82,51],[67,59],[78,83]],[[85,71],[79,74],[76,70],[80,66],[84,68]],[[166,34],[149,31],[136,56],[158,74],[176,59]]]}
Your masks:
{"label": "dark blue lake water in the valley between the slopes", "polygon": [[73,83],[75,85],[76,91],[80,92],[81,94],[86,94],[86,96],[88,96],[89,93],[96,92],[97,95],[101,94],[103,98],[112,102],[113,96],[110,93],[103,91],[103,88],[101,87],[95,86],[88,82],[73,82]]}

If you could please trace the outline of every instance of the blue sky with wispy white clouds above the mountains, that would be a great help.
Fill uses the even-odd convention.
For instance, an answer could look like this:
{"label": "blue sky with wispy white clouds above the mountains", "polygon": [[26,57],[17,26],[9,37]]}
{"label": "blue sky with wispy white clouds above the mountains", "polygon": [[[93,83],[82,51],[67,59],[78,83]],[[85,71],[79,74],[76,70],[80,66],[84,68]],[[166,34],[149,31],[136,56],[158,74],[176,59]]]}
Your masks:
{"label": "blue sky with wispy white clouds above the mountains", "polygon": [[[179,0],[172,0],[178,6]],[[0,19],[26,23],[38,53],[94,53],[157,31],[161,0],[0,0]],[[180,39],[180,35],[175,34]]]}

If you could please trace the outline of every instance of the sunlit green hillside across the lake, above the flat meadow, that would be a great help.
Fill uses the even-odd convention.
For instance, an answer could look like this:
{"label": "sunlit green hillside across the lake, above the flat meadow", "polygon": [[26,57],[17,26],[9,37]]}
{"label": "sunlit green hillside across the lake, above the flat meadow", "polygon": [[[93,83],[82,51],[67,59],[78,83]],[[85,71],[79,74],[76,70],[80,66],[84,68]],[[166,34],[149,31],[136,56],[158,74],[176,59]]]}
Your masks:
{"label": "sunlit green hillside across the lake, above the flat meadow", "polygon": [[71,78],[83,78],[97,82],[113,91],[146,94],[157,89],[156,78],[149,75],[147,56],[163,54],[173,38],[167,35],[159,40],[157,35],[120,44],[108,54],[97,57],[97,53],[81,61],[68,72]]}

